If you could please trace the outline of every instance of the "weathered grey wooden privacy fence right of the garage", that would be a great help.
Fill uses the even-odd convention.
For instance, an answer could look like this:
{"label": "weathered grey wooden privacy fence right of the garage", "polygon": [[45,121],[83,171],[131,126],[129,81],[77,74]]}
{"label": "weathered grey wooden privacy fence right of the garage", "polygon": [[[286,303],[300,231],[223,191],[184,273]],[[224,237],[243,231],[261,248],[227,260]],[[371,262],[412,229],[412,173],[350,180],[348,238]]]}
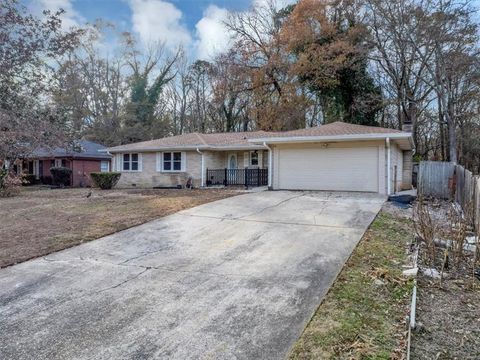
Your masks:
{"label": "weathered grey wooden privacy fence right of the garage", "polygon": [[469,221],[480,225],[480,177],[461,165],[422,161],[418,170],[418,194],[458,203]]}

